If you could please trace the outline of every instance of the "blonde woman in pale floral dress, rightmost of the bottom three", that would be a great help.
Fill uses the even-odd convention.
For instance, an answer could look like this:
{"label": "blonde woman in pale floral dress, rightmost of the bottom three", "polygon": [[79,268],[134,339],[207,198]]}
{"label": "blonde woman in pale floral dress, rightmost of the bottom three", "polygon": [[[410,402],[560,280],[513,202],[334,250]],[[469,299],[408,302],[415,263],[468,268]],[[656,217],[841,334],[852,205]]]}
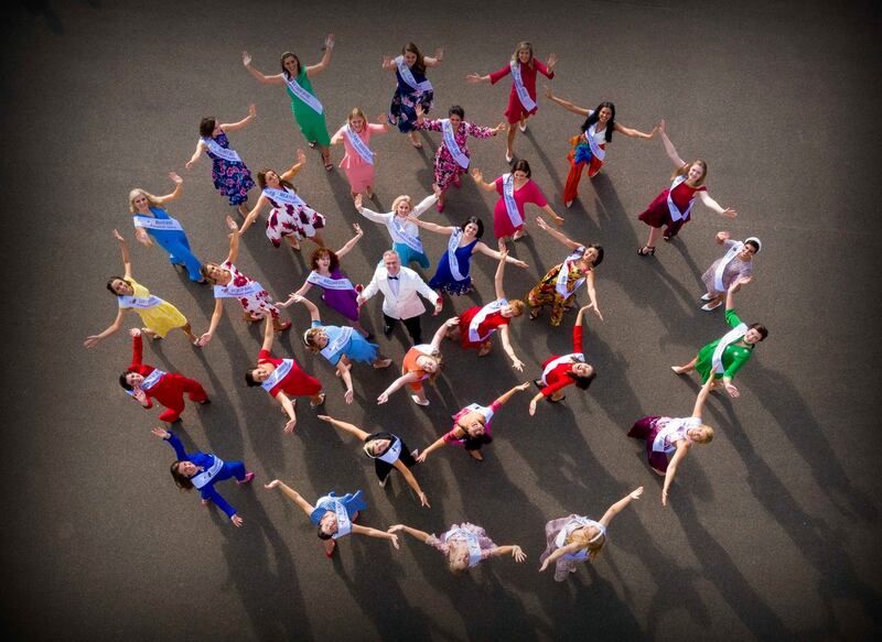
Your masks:
{"label": "blonde woman in pale floral dress, rightmost of the bottom three", "polygon": [[642,486],[632,490],[606,509],[599,522],[577,514],[548,522],[545,525],[546,548],[539,556],[542,563],[539,573],[553,564],[555,581],[563,581],[578,570],[580,562],[593,562],[606,544],[610,522],[642,494]]}

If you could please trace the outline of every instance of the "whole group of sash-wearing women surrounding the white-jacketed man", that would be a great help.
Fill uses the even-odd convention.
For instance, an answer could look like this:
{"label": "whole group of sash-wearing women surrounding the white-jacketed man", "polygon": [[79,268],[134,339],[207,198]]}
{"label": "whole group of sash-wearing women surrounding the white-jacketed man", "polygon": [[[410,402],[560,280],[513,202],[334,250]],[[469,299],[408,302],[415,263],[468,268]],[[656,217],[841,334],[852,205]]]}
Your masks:
{"label": "whole group of sash-wearing women surrounding the white-jacketed man", "polygon": [[[560,226],[560,217],[549,204],[540,187],[531,178],[531,170],[527,160],[515,161],[514,143],[517,131],[527,130],[527,120],[538,111],[536,81],[539,74],[549,80],[555,78],[558,56],[551,54],[547,62],[540,62],[534,53],[533,45],[521,42],[515,48],[510,59],[498,70],[488,74],[469,74],[469,83],[490,83],[495,85],[510,76],[512,87],[507,107],[504,111],[505,122],[494,128],[482,127],[465,120],[465,111],[459,105],[450,107],[447,118],[430,119],[427,115],[433,108],[434,87],[428,79],[430,68],[443,61],[443,50],[439,48],[433,56],[424,56],[413,44],[408,43],[397,57],[385,56],[383,69],[394,72],[396,88],[391,104],[386,113],[380,115],[377,122],[369,122],[365,112],[355,107],[347,112],[345,122],[329,135],[325,107],[318,98],[312,80],[329,68],[335,40],[329,35],[324,42],[323,55],[319,63],[303,65],[300,57],[291,52],[282,54],[281,73],[265,75],[252,65],[247,52],[241,59],[246,69],[261,84],[279,85],[286,88],[291,100],[291,109],[295,121],[311,148],[321,153],[324,168],[334,170],[331,161],[331,148],[343,144],[345,154],[340,163],[348,179],[355,209],[366,219],[386,227],[392,250],[400,259],[401,265],[416,263],[422,270],[431,266],[431,261],[420,239],[421,230],[441,235],[448,239],[447,250],[437,261],[434,274],[429,287],[439,295],[459,296],[471,292],[474,283],[471,278],[471,261],[476,254],[484,254],[496,261],[494,276],[494,297],[484,305],[472,306],[459,315],[445,320],[435,333],[430,344],[417,344],[402,357],[400,376],[395,379],[377,398],[376,403],[391,402],[395,393],[407,388],[413,403],[424,406],[431,402],[426,393],[426,384],[431,384],[443,367],[442,345],[445,339],[458,341],[463,349],[474,349],[478,357],[490,355],[493,337],[498,331],[504,351],[517,371],[523,371],[525,363],[517,357],[509,324],[524,313],[530,320],[537,319],[544,308],[550,311],[550,324],[559,327],[563,324],[567,311],[578,307],[577,293],[585,286],[589,304],[578,307],[572,329],[572,349],[569,355],[551,355],[540,364],[539,376],[533,382],[527,381],[503,392],[488,405],[474,402],[452,415],[453,424],[437,440],[428,444],[422,451],[410,449],[405,438],[392,432],[379,428],[372,433],[327,414],[318,418],[330,426],[349,435],[361,444],[362,451],[373,460],[380,487],[385,487],[394,469],[398,470],[405,482],[413,491],[421,507],[430,508],[427,492],[417,479],[415,470],[423,467],[430,454],[445,445],[462,447],[473,459],[484,459],[482,447],[493,440],[492,422],[519,392],[531,385],[538,392],[529,401],[525,414],[534,416],[539,411],[539,402],[561,403],[566,399],[564,390],[574,385],[587,390],[598,376],[595,367],[585,356],[585,313],[591,312],[603,320],[601,306],[595,289],[596,270],[603,261],[604,249],[596,243],[576,241],[551,227],[545,218],[536,217],[536,225],[567,249],[566,258],[555,264],[542,275],[537,284],[526,293],[524,300],[509,300],[505,294],[504,274],[507,264],[528,269],[524,261],[509,255],[508,242],[517,241],[527,233],[529,216],[526,206],[531,204]],[[660,121],[649,132],[642,132],[624,127],[615,120],[615,106],[601,102],[595,109],[578,107],[574,104],[555,96],[546,87],[548,100],[584,118],[581,132],[570,140],[567,156],[569,175],[567,177],[562,202],[570,208],[578,198],[578,185],[583,170],[588,170],[589,178],[595,176],[603,167],[609,145],[614,132],[628,138],[650,140],[659,135],[667,155],[675,165],[670,187],[662,192],[639,215],[639,220],[650,226],[650,232],[639,254],[654,254],[659,236],[671,240],[690,218],[696,196],[709,208],[725,217],[734,217],[735,211],[723,208],[713,200],[704,185],[708,166],[702,160],[686,162],[679,156],[667,137],[665,121]],[[211,283],[215,298],[215,307],[207,329],[196,335],[186,317],[171,303],[153,295],[135,281],[128,244],[123,237],[114,230],[122,254],[123,275],[108,280],[107,289],[117,297],[118,312],[114,324],[98,335],[89,336],[85,345],[93,347],[120,329],[122,316],[128,311],[138,313],[144,325],[140,330],[133,328],[132,361],[120,374],[119,382],[123,390],[143,407],[150,409],[152,400],[166,407],[160,420],[170,423],[180,421],[184,411],[184,396],[192,402],[208,403],[208,393],[197,381],[179,373],[164,372],[143,363],[142,336],[158,340],[172,329],[181,329],[189,341],[196,347],[205,347],[212,340],[224,313],[224,300],[235,298],[243,308],[246,323],[263,323],[263,340],[254,363],[244,367],[245,382],[249,387],[260,387],[280,406],[287,421],[282,427],[290,433],[297,425],[295,402],[298,396],[305,396],[310,406],[319,409],[325,404],[326,391],[323,383],[297,363],[293,357],[273,356],[272,347],[277,333],[292,327],[291,320],[283,320],[281,311],[292,304],[303,305],[311,318],[310,327],[303,334],[306,349],[321,355],[335,369],[336,377],[345,388],[343,399],[353,403],[355,399],[353,366],[364,362],[374,368],[387,368],[391,359],[378,351],[372,342],[373,334],[365,328],[361,318],[361,286],[353,284],[343,270],[342,262],[361,240],[364,232],[358,224],[353,224],[354,236],[336,251],[326,247],[322,231],[332,225],[329,217],[310,207],[294,187],[292,181],[306,163],[303,151],[297,151],[297,162],[284,172],[265,168],[257,174],[260,188],[254,207],[247,205],[248,193],[256,183],[250,170],[238,152],[230,146],[228,133],[241,130],[256,117],[252,105],[248,116],[233,123],[220,123],[216,118],[204,118],[200,123],[200,138],[195,151],[186,162],[187,170],[206,154],[212,161],[212,179],[215,188],[227,198],[243,218],[243,224],[227,216],[229,232],[227,257],[219,263],[198,260],[191,249],[182,224],[165,209],[168,203],[181,196],[183,179],[174,172],[169,174],[175,188],[165,196],[154,196],[143,189],[133,189],[129,194],[129,209],[133,217],[136,239],[144,244],[159,244],[169,254],[169,261],[187,272],[195,283]],[[391,211],[380,213],[366,207],[367,199],[374,196],[376,153],[370,149],[372,137],[386,133],[388,126],[395,126],[399,132],[407,134],[415,148],[421,148],[418,135],[421,131],[441,133],[442,143],[434,154],[434,173],[431,193],[415,204],[411,197],[398,196]],[[488,139],[507,132],[505,160],[509,164],[508,172],[494,181],[484,181],[484,173],[471,165],[469,138]],[[483,191],[498,195],[493,213],[493,233],[497,239],[497,249],[493,249],[482,239],[484,222],[478,217],[466,217],[462,222],[440,225],[422,218],[432,205],[441,213],[444,209],[448,192],[459,187],[461,177],[469,173],[475,185]],[[300,241],[309,239],[315,250],[309,262],[310,271],[305,274],[299,290],[284,301],[273,301],[270,293],[256,280],[247,276],[237,265],[239,241],[258,219],[261,211],[269,207],[266,233],[275,247],[281,246],[282,239],[294,250],[300,250]],[[664,229],[664,232],[662,231]],[[755,237],[738,241],[730,232],[721,231],[716,240],[727,252],[716,261],[702,276],[706,292],[701,295],[701,309],[711,312],[725,303],[725,320],[732,328],[723,337],[708,344],[698,355],[682,366],[673,367],[677,374],[686,374],[696,370],[702,379],[701,390],[696,399],[693,410],[688,417],[668,417],[652,415],[636,421],[628,435],[645,440],[647,463],[652,470],[665,477],[662,489],[662,503],[667,504],[670,485],[675,479],[682,459],[693,444],[707,444],[713,438],[713,428],[702,422],[702,413],[711,390],[719,383],[730,396],[739,396],[738,388],[732,379],[750,359],[753,350],[768,334],[762,324],[747,326],[743,324],[734,309],[734,294],[752,280],[752,260],[762,244]],[[563,253],[561,252],[563,257]],[[389,279],[397,279],[389,276]],[[349,325],[333,326],[322,322],[319,307],[306,298],[316,289],[321,291],[324,305],[344,317]],[[440,309],[440,303],[437,311]],[[400,399],[400,396],[399,396]],[[550,407],[550,406],[549,406]],[[326,411],[325,411],[326,412]],[[175,461],[171,474],[175,483],[185,490],[200,490],[203,503],[214,502],[220,508],[236,526],[244,521],[237,511],[224,500],[215,489],[219,481],[235,478],[238,483],[247,483],[255,474],[247,471],[240,461],[224,461],[217,455],[206,453],[187,454],[180,439],[171,431],[155,428],[153,434],[166,440],[175,453]],[[422,477],[422,476],[421,476]],[[475,566],[483,559],[510,555],[516,562],[523,562],[526,554],[519,545],[497,545],[483,527],[471,522],[453,524],[441,535],[405,524],[395,524],[386,530],[356,524],[367,503],[361,490],[337,496],[334,491],[318,498],[313,503],[306,501],[297,490],[281,480],[272,480],[266,485],[268,490],[278,489],[294,504],[303,510],[318,526],[318,536],[324,541],[325,554],[330,557],[336,549],[337,540],[347,534],[361,534],[388,540],[395,548],[399,548],[398,533],[407,533],[441,552],[453,572],[461,572]],[[551,520],[545,529],[546,549],[540,556],[540,572],[553,563],[555,579],[564,580],[577,569],[577,563],[591,561],[602,549],[607,540],[607,527],[612,519],[637,500],[643,487],[636,488],[624,498],[614,502],[599,521],[583,515],[570,514]]]}

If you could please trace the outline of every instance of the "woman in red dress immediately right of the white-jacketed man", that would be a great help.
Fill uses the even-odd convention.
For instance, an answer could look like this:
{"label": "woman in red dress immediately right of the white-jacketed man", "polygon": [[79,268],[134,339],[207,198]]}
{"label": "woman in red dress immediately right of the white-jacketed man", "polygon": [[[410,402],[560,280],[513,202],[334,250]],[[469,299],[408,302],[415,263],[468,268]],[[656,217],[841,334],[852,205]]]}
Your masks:
{"label": "woman in red dress immediately right of the white-jacketed man", "polygon": [[484,306],[475,305],[462,313],[460,315],[460,324],[451,328],[448,333],[448,338],[459,340],[463,349],[475,349],[477,350],[478,357],[485,357],[490,355],[490,349],[493,347],[491,337],[496,330],[499,330],[503,349],[512,359],[512,367],[518,372],[521,372],[524,370],[524,362],[517,358],[515,349],[512,347],[508,324],[513,318],[517,318],[524,314],[524,302],[518,298],[509,302],[505,297],[503,275],[505,274],[508,250],[503,247],[499,250],[499,265],[496,268],[496,275],[493,280],[496,290],[496,300]]}

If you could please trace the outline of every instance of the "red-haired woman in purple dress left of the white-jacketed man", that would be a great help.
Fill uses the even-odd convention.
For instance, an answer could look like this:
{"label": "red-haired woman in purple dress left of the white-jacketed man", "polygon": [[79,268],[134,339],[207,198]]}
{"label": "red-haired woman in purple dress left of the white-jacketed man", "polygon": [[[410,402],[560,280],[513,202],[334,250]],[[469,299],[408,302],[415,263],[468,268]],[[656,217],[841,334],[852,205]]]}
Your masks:
{"label": "red-haired woman in purple dress left of the white-jacketed man", "polygon": [[352,326],[362,333],[363,337],[373,339],[373,335],[358,320],[361,308],[356,300],[361,292],[361,285],[354,286],[352,281],[340,269],[340,260],[349,253],[355,243],[361,240],[362,235],[364,235],[357,222],[353,224],[352,227],[355,230],[355,236],[336,252],[327,248],[319,248],[312,252],[310,258],[312,272],[306,275],[306,281],[294,294],[305,296],[313,285],[318,285],[322,291],[322,301],[327,307],[337,311],[349,319]]}

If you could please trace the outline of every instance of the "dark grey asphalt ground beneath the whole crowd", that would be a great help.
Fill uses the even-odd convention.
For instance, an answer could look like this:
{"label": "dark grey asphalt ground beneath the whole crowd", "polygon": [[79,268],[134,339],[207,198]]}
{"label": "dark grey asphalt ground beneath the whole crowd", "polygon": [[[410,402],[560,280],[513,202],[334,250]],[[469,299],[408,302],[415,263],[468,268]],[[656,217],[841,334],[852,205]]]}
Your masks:
{"label": "dark grey asphalt ground beneath the whole crowd", "polygon": [[[872,3],[756,1],[521,8],[34,0],[9,8],[0,58],[0,287],[10,304],[0,347],[6,632],[35,640],[878,636],[880,18]],[[282,434],[276,406],[241,380],[260,328],[246,327],[229,305],[204,350],[170,336],[148,346],[146,359],[198,379],[212,395],[206,407],[187,406],[176,428],[184,443],[244,459],[257,472],[251,487],[220,487],[245,519],[235,529],[218,510],[178,492],[171,451],[150,435],[157,411],[139,410],[119,389],[128,335],[93,350],[82,341],[114,318],[104,283],[120,271],[115,227],[131,243],[136,278],[175,303],[197,331],[206,327],[211,291],[175,273],[161,250],[133,242],[128,191],[170,192],[165,173],[181,172],[184,195],[169,210],[198,257],[223,259],[230,208],[213,189],[205,159],[183,167],[200,118],[235,121],[256,104],[258,119],[232,134],[233,144],[255,172],[286,167],[305,141],[283,90],[257,84],[240,52],[276,73],[286,50],[318,62],[329,32],[336,48],[314,87],[331,128],[355,105],[372,118],[387,108],[394,77],[379,64],[409,40],[427,52],[445,48],[430,74],[433,115],[455,102],[467,119],[495,124],[509,84],[473,86],[464,76],[501,67],[528,39],[540,57],[560,55],[552,83],[560,96],[587,107],[613,100],[617,120],[638,129],[666,118],[681,155],[708,161],[711,194],[739,217],[721,220],[698,205],[678,240],[638,258],[647,228],[636,215],[670,172],[660,141],[617,135],[604,172],[593,183],[583,178],[580,200],[564,211],[567,141],[580,121],[541,99],[517,138],[517,155],[566,216],[563,231],[606,249],[598,273],[605,322],[588,318],[587,353],[600,373],[590,392],[570,390],[566,404],[544,404],[535,418],[527,394],[515,398],[495,418],[483,464],[448,448],[417,470],[432,502],[421,509],[400,479],[379,489],[356,444],[308,404],[300,404],[295,433]],[[397,132],[374,139],[383,207],[398,194],[428,193],[439,137],[424,141],[418,152]],[[471,149],[488,178],[505,171],[502,139]],[[334,150],[335,161],[341,154]],[[297,184],[327,216],[330,244],[343,244],[359,220],[343,174],[326,174],[310,152]],[[443,215],[427,218],[478,215],[490,224],[494,203],[465,181]],[[387,235],[361,222],[365,238],[344,266],[366,283]],[[660,479],[642,443],[625,434],[643,415],[691,410],[696,380],[668,366],[725,329],[720,313],[698,309],[699,276],[719,254],[720,229],[763,240],[755,282],[738,309],[771,336],[738,378],[741,399],[718,394],[709,403],[717,438],[688,457],[663,508]],[[422,236],[434,263],[443,240]],[[508,270],[506,291],[523,296],[566,250],[534,226],[515,253],[530,269]],[[258,226],[238,264],[282,296],[302,283],[304,260],[273,249]],[[488,301],[493,270],[477,258],[476,293],[447,300],[443,317],[427,317],[427,335],[441,318]],[[375,330],[379,305],[367,306]],[[302,330],[304,311],[292,315]],[[424,447],[449,427],[451,412],[490,402],[536,377],[548,355],[569,351],[572,323],[570,315],[551,329],[546,314],[513,324],[523,376],[498,345],[486,359],[448,345],[448,369],[424,410],[405,393],[385,406],[373,401],[400,364],[404,328],[379,339],[392,369],[355,368],[351,406],[299,333],[279,340],[277,351],[322,379],[329,414]],[[261,488],[273,478],[309,500],[364,489],[363,523],[377,527],[404,522],[440,533],[473,521],[498,543],[523,545],[529,558],[495,559],[458,577],[415,540],[395,552],[383,541],[348,537],[329,562],[304,515]],[[599,518],[637,486],[644,498],[616,518],[593,565],[563,585],[537,573],[548,520]]]}

